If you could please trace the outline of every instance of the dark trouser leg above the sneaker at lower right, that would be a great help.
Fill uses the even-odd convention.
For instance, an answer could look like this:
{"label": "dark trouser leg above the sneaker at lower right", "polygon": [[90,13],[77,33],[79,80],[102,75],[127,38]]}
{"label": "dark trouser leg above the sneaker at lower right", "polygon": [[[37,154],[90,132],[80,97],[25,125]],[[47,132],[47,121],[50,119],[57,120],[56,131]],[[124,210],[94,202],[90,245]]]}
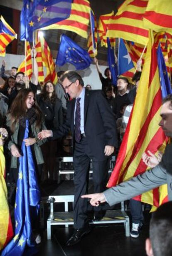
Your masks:
{"label": "dark trouser leg above the sneaker at lower right", "polygon": [[142,203],[140,201],[130,199],[130,211],[133,223],[143,223]]}

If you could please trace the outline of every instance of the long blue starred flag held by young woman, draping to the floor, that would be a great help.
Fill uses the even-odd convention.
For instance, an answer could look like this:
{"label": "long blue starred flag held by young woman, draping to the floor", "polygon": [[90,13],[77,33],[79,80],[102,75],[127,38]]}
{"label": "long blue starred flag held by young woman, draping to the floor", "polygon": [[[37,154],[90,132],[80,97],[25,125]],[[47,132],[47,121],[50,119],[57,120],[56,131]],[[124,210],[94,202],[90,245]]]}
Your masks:
{"label": "long blue starred flag held by young woman, draping to the floor", "polygon": [[[26,120],[24,139],[29,137],[29,121]],[[15,236],[2,251],[2,256],[21,256],[35,253],[35,241],[32,236],[30,206],[39,208],[40,190],[37,182],[32,151],[30,146],[22,143],[23,156],[20,157],[19,175],[17,179],[16,199],[15,199]],[[33,219],[33,216],[32,216]],[[27,253],[26,253],[27,251]]]}

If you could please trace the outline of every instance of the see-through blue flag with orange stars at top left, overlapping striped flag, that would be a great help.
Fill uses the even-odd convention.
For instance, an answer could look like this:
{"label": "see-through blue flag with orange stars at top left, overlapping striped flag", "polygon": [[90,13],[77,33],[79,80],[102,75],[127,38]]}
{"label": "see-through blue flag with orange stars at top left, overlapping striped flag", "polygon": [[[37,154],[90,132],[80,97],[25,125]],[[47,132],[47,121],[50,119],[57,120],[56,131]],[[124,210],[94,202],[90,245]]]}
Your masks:
{"label": "see-through blue flag with orange stars at top left, overlapping striped flag", "polygon": [[34,0],[27,20],[29,38],[34,30],[66,20],[71,14],[71,1]]}

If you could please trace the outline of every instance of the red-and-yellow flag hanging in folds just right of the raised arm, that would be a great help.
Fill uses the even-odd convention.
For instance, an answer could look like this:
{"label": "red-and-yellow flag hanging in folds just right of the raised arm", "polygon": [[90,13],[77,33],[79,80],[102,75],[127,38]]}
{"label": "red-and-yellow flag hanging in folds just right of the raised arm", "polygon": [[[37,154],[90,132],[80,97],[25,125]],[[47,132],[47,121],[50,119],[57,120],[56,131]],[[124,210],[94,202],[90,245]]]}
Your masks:
{"label": "red-and-yellow flag hanging in folds just right of the raised arm", "polygon": [[56,67],[52,58],[52,54],[50,52],[49,46],[47,45],[47,42],[45,41],[44,37],[39,37],[39,40],[41,42],[41,51],[42,51],[42,61],[44,67],[46,67],[47,74],[44,79],[44,82],[51,81],[54,85],[57,84],[57,73],[56,73]]}

